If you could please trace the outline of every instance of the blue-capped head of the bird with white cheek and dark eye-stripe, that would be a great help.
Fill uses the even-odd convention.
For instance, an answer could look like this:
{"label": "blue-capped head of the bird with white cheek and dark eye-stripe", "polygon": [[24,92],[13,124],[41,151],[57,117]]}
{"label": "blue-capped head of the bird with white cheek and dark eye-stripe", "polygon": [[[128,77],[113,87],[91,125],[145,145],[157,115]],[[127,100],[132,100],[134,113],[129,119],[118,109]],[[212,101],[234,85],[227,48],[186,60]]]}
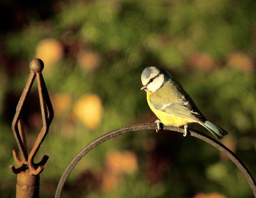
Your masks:
{"label": "blue-capped head of the bird with white cheek and dark eye-stripe", "polygon": [[170,78],[168,72],[157,67],[146,67],[141,74],[143,87],[141,90],[155,92],[161,88]]}

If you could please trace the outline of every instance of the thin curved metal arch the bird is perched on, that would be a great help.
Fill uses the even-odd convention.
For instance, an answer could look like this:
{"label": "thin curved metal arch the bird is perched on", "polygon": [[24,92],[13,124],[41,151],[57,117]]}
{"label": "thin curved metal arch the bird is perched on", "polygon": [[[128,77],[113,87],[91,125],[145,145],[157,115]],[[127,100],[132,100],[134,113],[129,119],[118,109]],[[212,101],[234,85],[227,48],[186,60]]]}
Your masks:
{"label": "thin curved metal arch the bird is perched on", "polygon": [[[95,148],[99,144],[103,143],[104,141],[109,140],[111,138],[114,138],[116,136],[119,136],[121,134],[129,133],[129,132],[133,132],[133,131],[148,130],[148,129],[157,129],[157,124],[155,124],[155,123],[145,123],[145,124],[136,124],[136,125],[132,125],[132,126],[122,127],[122,128],[116,129],[114,131],[110,131],[106,134],[103,134],[99,138],[97,138],[94,141],[92,141],[91,143],[89,143],[86,147],[84,147],[74,157],[74,159],[71,161],[69,166],[64,171],[63,175],[61,176],[61,179],[59,180],[59,184],[58,184],[58,187],[57,187],[57,190],[56,190],[55,198],[60,198],[64,183],[67,180],[67,178],[69,177],[69,174],[71,173],[73,168],[76,166],[76,164],[90,150],[92,150],[93,148]],[[176,131],[176,132],[179,132],[179,133],[184,133],[183,129],[176,128],[176,127],[171,127],[171,126],[163,126],[163,129],[164,130],[169,130],[169,131]],[[238,157],[236,157],[235,154],[231,150],[229,150],[227,147],[225,147],[222,143],[218,142],[217,140],[207,136],[206,134],[200,133],[200,132],[192,130],[192,129],[189,129],[188,131],[189,131],[189,134],[191,136],[209,143],[210,145],[214,146],[215,148],[218,148],[218,150],[223,152],[227,157],[229,157],[229,159],[231,159],[231,161],[233,161],[233,163],[243,173],[243,175],[245,176],[245,179],[247,180],[247,182],[251,186],[251,189],[252,189],[252,192],[253,192],[254,196],[256,197],[256,183],[255,183],[251,173],[246,168],[246,166],[242,163],[242,161],[240,161],[240,159],[238,159]]]}

